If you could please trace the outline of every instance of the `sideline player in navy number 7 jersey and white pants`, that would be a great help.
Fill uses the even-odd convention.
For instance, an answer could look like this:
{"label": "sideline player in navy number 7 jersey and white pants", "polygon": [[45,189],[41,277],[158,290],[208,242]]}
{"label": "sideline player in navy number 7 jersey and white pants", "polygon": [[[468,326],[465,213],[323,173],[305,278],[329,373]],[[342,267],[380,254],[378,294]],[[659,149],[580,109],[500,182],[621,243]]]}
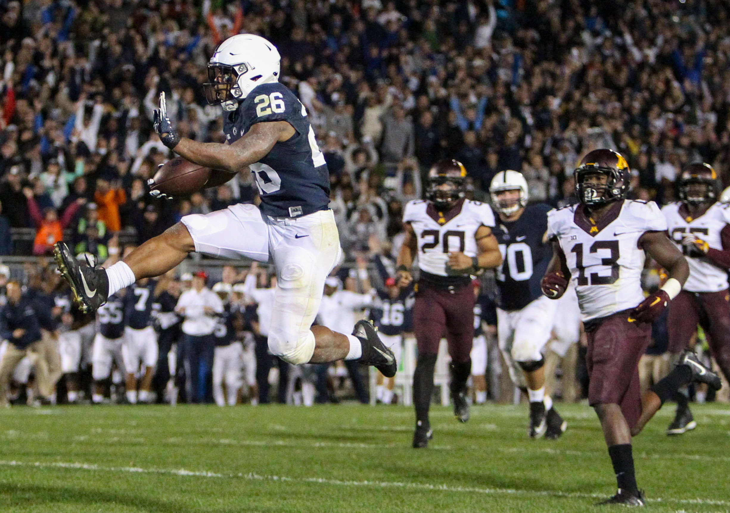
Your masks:
{"label": "sideline player in navy number 7 jersey and white pants", "polygon": [[[127,289],[124,296],[124,342],[122,356],[126,369],[127,401],[137,404],[150,401],[152,378],[157,365],[157,332],[153,328],[152,306],[155,302],[157,282],[142,278]],[[140,364],[141,369],[140,370]],[[137,392],[137,376],[139,393]],[[139,396],[139,397],[138,397]]]}

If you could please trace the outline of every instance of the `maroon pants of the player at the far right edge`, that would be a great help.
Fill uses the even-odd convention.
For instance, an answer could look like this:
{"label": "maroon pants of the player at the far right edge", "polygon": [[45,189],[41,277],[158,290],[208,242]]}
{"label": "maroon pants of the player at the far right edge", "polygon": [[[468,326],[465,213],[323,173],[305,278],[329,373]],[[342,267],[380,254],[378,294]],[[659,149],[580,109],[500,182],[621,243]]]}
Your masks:
{"label": "maroon pants of the player at the far right edge", "polygon": [[688,292],[682,290],[669,304],[669,352],[678,355],[687,348],[702,326],[712,358],[730,379],[730,297],[728,290]]}

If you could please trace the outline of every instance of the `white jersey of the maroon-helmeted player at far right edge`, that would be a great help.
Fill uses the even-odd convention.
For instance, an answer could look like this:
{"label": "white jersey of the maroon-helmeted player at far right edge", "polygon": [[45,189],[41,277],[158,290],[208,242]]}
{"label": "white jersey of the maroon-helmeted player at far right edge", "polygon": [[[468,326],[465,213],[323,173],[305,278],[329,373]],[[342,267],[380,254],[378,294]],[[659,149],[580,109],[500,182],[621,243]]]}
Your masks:
{"label": "white jersey of the maroon-helmeted player at far right edge", "polygon": [[[703,215],[692,219],[680,214],[681,203],[670,203],[661,209],[666,217],[669,238],[683,250],[682,239],[685,234],[695,234],[699,239],[714,248],[722,250],[723,244],[720,232],[730,223],[730,205],[715,203]],[[728,288],[728,274],[725,269],[715,266],[707,258],[687,257],[689,263],[689,277],[685,282],[684,290],[690,292],[718,292]]]}

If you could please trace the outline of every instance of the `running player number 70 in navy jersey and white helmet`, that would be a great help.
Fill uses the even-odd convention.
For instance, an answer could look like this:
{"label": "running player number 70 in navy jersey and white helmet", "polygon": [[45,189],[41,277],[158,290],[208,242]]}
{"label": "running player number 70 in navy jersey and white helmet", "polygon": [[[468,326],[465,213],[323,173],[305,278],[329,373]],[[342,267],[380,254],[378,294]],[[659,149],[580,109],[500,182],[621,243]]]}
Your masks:
{"label": "running player number 70 in navy jersey and white helmet", "polygon": [[527,205],[527,181],[518,171],[500,171],[489,185],[492,208],[499,217],[494,236],[502,252],[496,269],[497,339],[515,386],[530,400],[528,434],[557,439],[567,424],[545,395],[545,357],[556,316],[556,301],[542,295],[540,280],[553,250],[545,239],[546,204]]}

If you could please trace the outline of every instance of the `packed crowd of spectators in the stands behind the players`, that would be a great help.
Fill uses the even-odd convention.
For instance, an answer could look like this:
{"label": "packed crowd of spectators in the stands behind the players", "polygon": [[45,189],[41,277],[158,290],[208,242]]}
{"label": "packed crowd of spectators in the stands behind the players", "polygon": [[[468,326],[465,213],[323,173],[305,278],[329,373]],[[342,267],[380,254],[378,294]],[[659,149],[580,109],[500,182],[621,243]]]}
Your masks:
{"label": "packed crowd of spectators in the stands behind the players", "polygon": [[[443,157],[464,163],[477,199],[497,171],[515,169],[531,201],[559,206],[572,201],[580,156],[612,148],[629,161],[634,196],[666,204],[687,163],[730,177],[729,9],[721,0],[0,0],[0,255],[49,255],[64,239],[104,261],[123,250],[120,239],[140,244],[183,215],[258,201],[248,172],[175,201],[147,188],[170,157],[151,123],[161,91],[180,135],[223,142],[220,107],[206,104],[201,83],[215,45],[239,31],[280,50],[280,81],[307,107],[326,156],[350,262],[390,269],[381,257],[396,255],[404,204],[422,196]],[[32,244],[18,239],[23,228]],[[221,281],[245,282],[231,272]],[[343,272],[334,287],[367,292],[358,276]],[[29,290],[55,282],[43,261],[23,280]],[[169,279],[175,293],[179,282]],[[247,290],[243,312],[266,301]],[[262,369],[272,362],[262,347],[266,401]],[[322,398],[326,379],[315,381]]]}

